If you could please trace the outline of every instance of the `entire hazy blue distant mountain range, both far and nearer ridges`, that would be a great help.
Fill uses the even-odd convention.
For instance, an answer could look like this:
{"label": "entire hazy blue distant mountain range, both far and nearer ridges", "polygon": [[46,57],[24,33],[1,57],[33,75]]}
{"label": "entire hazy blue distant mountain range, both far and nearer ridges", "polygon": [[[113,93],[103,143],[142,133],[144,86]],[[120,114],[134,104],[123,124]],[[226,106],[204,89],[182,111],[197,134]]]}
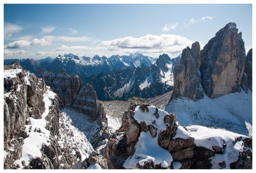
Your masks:
{"label": "entire hazy blue distant mountain range, both far and nearer ridges", "polygon": [[132,96],[149,98],[171,91],[173,66],[179,64],[179,60],[180,56],[171,59],[167,54],[158,59],[139,53],[111,57],[64,54],[55,59],[4,59],[4,65],[17,62],[39,77],[43,76],[41,73],[52,76],[51,81],[45,79],[48,86],[52,85],[54,76],[65,69],[67,74],[79,75],[83,84],[92,84],[100,100],[125,100]]}

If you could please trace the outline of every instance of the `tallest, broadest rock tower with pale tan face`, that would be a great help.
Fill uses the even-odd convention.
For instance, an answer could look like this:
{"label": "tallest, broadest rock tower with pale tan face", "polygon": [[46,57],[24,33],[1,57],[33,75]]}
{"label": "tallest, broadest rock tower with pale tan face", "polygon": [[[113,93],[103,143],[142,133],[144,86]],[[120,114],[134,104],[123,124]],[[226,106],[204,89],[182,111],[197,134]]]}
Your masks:
{"label": "tallest, broadest rock tower with pale tan face", "polygon": [[202,87],[210,98],[239,91],[246,55],[237,31],[235,23],[228,23],[201,52]]}

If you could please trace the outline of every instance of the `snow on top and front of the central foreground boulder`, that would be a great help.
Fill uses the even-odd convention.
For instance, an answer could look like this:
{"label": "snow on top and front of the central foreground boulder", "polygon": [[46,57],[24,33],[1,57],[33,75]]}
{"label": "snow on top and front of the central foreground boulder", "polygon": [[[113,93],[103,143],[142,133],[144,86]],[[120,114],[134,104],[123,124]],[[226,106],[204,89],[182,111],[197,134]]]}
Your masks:
{"label": "snow on top and front of the central foreground boulder", "polygon": [[173,161],[172,155],[166,150],[158,145],[157,139],[161,130],[166,129],[166,123],[163,119],[168,113],[164,110],[158,109],[159,117],[156,118],[154,113],[156,112],[156,107],[149,106],[148,112],[143,112],[140,107],[136,107],[134,110],[134,119],[141,123],[144,121],[147,125],[154,122],[154,127],[157,128],[156,137],[152,137],[150,132],[141,132],[138,142],[135,145],[135,153],[133,156],[127,158],[124,163],[125,169],[136,169],[137,163],[143,167],[145,162],[152,161],[154,165],[161,164],[161,167],[169,167]]}

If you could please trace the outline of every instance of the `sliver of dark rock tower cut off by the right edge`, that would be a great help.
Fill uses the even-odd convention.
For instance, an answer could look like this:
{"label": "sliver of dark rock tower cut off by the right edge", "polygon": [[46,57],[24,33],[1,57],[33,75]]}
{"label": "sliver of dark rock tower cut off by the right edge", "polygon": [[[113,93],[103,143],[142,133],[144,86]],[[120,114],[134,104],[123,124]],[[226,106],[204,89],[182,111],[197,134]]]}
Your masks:
{"label": "sliver of dark rock tower cut off by the right edge", "polygon": [[241,87],[246,93],[248,92],[248,89],[252,91],[252,49],[249,50],[246,56]]}

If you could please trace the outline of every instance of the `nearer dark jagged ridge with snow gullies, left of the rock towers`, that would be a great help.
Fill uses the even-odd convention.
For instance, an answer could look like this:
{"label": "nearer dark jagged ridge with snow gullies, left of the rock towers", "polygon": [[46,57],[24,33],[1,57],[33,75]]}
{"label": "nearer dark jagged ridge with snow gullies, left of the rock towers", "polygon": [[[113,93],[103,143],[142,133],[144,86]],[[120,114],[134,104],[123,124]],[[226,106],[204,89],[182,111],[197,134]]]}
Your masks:
{"label": "nearer dark jagged ridge with snow gullies, left of the rock towers", "polygon": [[150,98],[173,89],[173,67],[179,61],[180,56],[171,59],[163,54],[150,66],[124,68],[86,81],[92,84],[99,100],[127,100],[132,96]]}

